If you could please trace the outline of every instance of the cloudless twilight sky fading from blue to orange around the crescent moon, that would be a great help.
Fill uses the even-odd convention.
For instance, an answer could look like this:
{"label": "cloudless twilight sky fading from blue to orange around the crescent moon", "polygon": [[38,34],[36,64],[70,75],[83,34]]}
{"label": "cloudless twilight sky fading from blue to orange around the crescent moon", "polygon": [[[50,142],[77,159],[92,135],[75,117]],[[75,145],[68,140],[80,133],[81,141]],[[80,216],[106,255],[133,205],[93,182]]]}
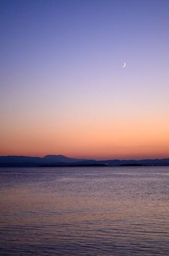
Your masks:
{"label": "cloudless twilight sky fading from blue to orange around the crescent moon", "polygon": [[169,157],[168,13],[167,0],[0,0],[0,155]]}

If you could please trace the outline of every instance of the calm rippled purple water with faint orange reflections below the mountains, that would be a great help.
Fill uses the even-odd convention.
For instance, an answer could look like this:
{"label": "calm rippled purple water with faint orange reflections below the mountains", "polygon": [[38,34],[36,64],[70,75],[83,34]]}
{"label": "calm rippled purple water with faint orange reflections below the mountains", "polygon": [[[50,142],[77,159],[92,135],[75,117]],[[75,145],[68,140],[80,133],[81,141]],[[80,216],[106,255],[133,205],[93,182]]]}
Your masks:
{"label": "calm rippled purple water with faint orange reflections below the mountains", "polygon": [[169,255],[169,167],[0,168],[1,255]]}

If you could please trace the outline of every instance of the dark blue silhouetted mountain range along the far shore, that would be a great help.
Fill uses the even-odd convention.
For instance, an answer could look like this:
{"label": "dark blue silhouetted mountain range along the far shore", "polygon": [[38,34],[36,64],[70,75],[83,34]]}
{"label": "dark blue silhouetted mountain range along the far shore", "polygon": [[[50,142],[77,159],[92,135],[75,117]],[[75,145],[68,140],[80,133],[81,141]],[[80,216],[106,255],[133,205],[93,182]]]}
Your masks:
{"label": "dark blue silhouetted mountain range along the far shore", "polygon": [[90,165],[105,164],[108,166],[122,166],[140,164],[144,166],[169,166],[169,158],[164,159],[142,159],[142,160],[88,160],[69,158],[63,155],[47,155],[45,157],[27,156],[0,156],[0,167],[21,167],[39,165]]}

